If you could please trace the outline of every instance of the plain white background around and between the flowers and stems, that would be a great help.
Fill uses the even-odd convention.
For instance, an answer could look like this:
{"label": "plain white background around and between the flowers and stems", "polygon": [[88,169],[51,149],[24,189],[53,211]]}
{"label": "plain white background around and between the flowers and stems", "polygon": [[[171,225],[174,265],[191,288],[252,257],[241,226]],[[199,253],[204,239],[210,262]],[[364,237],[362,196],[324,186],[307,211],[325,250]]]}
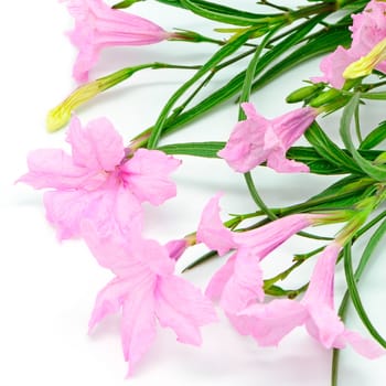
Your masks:
{"label": "plain white background around and between the flowers and stems", "polygon": [[[228,3],[253,9],[255,2]],[[132,12],[146,15],[167,30],[175,26],[211,33],[213,26],[153,1],[136,4]],[[0,385],[329,385],[331,353],[302,329],[288,335],[278,349],[258,347],[251,339],[237,335],[224,318],[221,323],[203,329],[204,343],[200,349],[179,344],[171,331],[160,329],[154,345],[129,380],[125,379],[127,364],[120,349],[119,318],[108,318],[92,336],[87,335],[95,296],[111,274],[97,266],[81,240],[62,244],[56,240],[44,219],[42,192],[13,184],[26,171],[25,158],[30,150],[65,146],[65,131],[47,135],[44,121],[46,111],[75,87],[71,78],[75,49],[63,34],[71,26],[65,6],[56,1],[2,3]],[[153,61],[200,64],[212,49],[210,44],[165,42],[106,50],[92,77]],[[285,104],[286,95],[312,75],[319,75],[317,63],[290,72],[254,95],[253,101],[266,116],[277,116],[292,108]],[[167,97],[189,76],[190,72],[143,72],[79,109],[78,116],[83,122],[107,116],[129,140],[154,122]],[[229,74],[219,74],[214,86],[226,76]],[[211,86],[205,93],[210,90]],[[379,110],[379,104],[366,110],[364,120],[368,127],[384,119]],[[226,140],[236,117],[237,106],[229,101],[167,141]],[[326,122],[329,132],[336,137],[336,118],[330,117]],[[149,236],[167,242],[194,230],[203,205],[218,191],[224,192],[224,215],[255,210],[243,178],[224,162],[182,159],[183,165],[174,173],[178,197],[162,207],[147,207]],[[333,181],[332,178],[279,175],[264,168],[257,168],[254,175],[262,197],[271,206],[296,203]],[[303,238],[291,239],[267,260],[267,276],[286,267],[293,253],[307,251],[310,247]],[[179,269],[204,251],[201,247],[190,250],[179,262]],[[367,311],[384,333],[385,257],[377,253],[361,282]],[[204,289],[222,262],[213,261],[184,277]],[[302,267],[289,286],[303,283],[311,268]],[[343,271],[339,267],[337,296],[343,290]],[[347,326],[367,334],[352,309]],[[347,349],[341,360],[340,385],[385,385],[385,358],[368,361]]]}

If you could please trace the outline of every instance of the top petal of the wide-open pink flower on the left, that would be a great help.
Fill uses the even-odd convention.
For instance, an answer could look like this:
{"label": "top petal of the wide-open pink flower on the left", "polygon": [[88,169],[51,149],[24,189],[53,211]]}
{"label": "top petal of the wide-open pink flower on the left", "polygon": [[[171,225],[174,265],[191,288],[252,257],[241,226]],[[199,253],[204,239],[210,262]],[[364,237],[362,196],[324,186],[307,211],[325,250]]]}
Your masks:
{"label": "top petal of the wide-open pink flower on the left", "polygon": [[73,117],[67,132],[75,164],[94,171],[114,171],[125,157],[124,141],[106,118],[89,121],[83,129]]}

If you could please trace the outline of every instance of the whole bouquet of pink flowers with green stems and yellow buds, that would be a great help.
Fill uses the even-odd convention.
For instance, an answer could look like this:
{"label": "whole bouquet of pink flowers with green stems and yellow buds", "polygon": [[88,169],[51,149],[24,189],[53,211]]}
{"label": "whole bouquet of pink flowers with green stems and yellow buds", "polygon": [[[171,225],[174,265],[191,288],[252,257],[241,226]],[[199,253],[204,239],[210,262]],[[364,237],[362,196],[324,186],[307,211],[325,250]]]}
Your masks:
{"label": "whole bouquet of pink flowers with green stems and yellow buds", "polygon": [[[45,190],[46,218],[57,238],[83,239],[96,261],[114,275],[96,297],[89,329],[109,314],[120,314],[124,357],[131,375],[156,340],[157,323],[172,329],[179,342],[193,345],[201,344],[202,328],[218,322],[221,312],[239,334],[251,336],[260,346],[278,345],[293,329],[304,326],[312,339],[333,350],[332,385],[336,385],[341,349],[350,345],[367,358],[384,355],[386,349],[358,288],[386,230],[386,152],[382,148],[386,124],[380,108],[386,99],[386,1],[309,0],[294,8],[260,1],[255,11],[246,11],[219,1],[158,0],[164,8],[180,8],[213,23],[208,33],[165,31],[136,14],[138,1],[143,0],[116,4],[63,0],[74,19],[68,37],[77,50],[73,77],[78,85],[49,111],[47,130],[66,127],[71,152],[32,151],[29,170],[19,179]],[[142,4],[143,10],[151,7],[148,1]],[[151,63],[114,68],[94,78],[106,49],[162,41],[202,43],[210,55],[202,63],[181,64],[158,61],[154,54]],[[170,62],[172,50],[164,55]],[[297,108],[274,118],[262,116],[253,96],[313,58],[320,61],[315,76],[299,79],[298,89],[280,95]],[[142,71],[165,68],[190,75],[165,96],[151,127],[124,136],[106,117],[81,122],[82,109],[105,90],[129,83]],[[224,76],[218,79],[217,74]],[[124,97],[114,89],[109,96]],[[238,117],[223,128],[227,141],[170,141],[172,133],[189,131],[202,116],[228,108],[229,100],[239,109]],[[376,106],[376,127],[361,120],[368,101]],[[151,106],[143,100],[146,109]],[[325,130],[325,117],[331,115],[340,115],[334,127],[339,140]],[[183,168],[185,157],[226,163],[243,178],[245,195],[255,206],[248,213],[222,215],[224,185],[207,197],[190,233],[161,243],[147,235],[146,206],[162,205],[176,195],[173,173]],[[271,207],[255,183],[254,173],[261,168],[331,175],[335,181],[296,204]],[[312,229],[323,226],[322,234]],[[267,275],[272,253],[296,235],[318,240],[318,247],[294,254],[274,276]],[[364,248],[353,259],[352,251],[358,254],[353,245],[362,236],[366,236]],[[206,247],[205,255],[197,255],[184,270],[219,261],[204,290],[176,268],[186,250],[199,244]],[[286,285],[305,261],[313,267],[308,279],[298,288]],[[340,266],[346,293],[335,307],[334,277]],[[350,302],[363,321],[361,333],[344,324]]]}

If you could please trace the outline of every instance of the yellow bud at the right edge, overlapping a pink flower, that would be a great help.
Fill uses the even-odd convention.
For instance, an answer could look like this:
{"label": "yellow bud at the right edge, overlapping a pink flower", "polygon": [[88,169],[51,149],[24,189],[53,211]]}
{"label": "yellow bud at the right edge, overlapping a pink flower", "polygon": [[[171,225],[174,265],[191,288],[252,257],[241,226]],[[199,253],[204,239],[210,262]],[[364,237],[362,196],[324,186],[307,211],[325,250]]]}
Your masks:
{"label": "yellow bud at the right edge, overlapping a pink flower", "polygon": [[358,61],[350,64],[343,72],[345,79],[355,79],[369,75],[373,68],[380,62],[386,60],[386,39],[380,41],[374,49]]}

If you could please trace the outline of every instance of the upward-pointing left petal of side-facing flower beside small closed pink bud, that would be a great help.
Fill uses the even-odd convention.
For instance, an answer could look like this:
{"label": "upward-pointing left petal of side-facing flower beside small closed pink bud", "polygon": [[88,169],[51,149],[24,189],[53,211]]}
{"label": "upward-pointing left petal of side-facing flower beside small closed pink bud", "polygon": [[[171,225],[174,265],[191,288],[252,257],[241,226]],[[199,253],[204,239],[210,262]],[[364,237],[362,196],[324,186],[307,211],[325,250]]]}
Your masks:
{"label": "upward-pointing left petal of side-facing flower beside small closed pink bud", "polygon": [[235,247],[232,232],[223,225],[219,218],[221,194],[215,195],[205,205],[201,215],[196,240],[204,243],[208,248],[217,250],[219,256]]}

